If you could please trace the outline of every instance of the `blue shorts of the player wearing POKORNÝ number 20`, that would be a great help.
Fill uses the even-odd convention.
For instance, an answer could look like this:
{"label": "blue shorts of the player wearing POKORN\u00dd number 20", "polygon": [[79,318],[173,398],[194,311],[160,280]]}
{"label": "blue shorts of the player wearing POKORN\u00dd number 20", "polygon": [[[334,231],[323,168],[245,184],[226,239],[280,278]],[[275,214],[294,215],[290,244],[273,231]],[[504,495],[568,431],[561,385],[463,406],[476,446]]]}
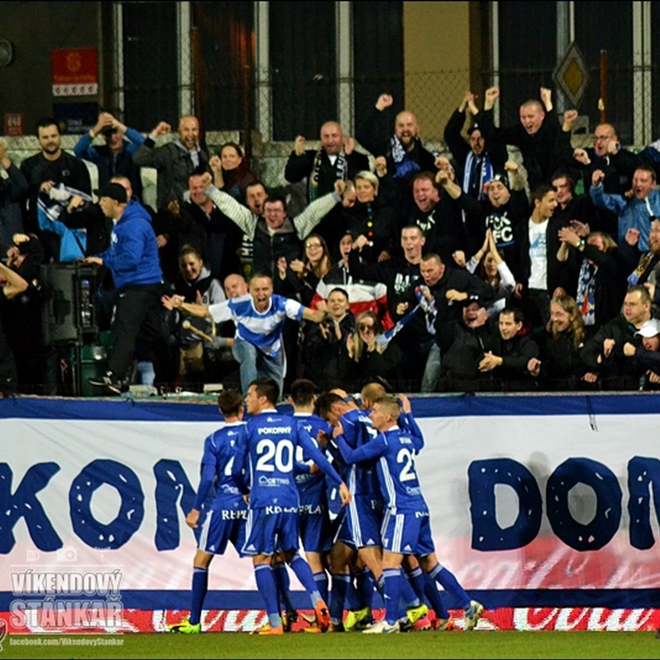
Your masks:
{"label": "blue shorts of the player wearing POKORN\u00dd number 20", "polygon": [[270,556],[287,550],[298,550],[298,507],[249,509],[243,553]]}

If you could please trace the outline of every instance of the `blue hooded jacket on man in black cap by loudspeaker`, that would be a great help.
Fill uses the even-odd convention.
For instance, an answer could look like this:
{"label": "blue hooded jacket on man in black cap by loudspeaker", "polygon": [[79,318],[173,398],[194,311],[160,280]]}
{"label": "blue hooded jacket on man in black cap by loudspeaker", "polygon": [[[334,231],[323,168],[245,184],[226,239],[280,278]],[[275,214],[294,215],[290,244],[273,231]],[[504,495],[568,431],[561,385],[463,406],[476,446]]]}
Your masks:
{"label": "blue hooded jacket on man in black cap by loudspeaker", "polygon": [[112,230],[110,248],[99,254],[110,268],[117,289],[128,284],[158,284],[163,275],[151,216],[141,203],[131,200]]}

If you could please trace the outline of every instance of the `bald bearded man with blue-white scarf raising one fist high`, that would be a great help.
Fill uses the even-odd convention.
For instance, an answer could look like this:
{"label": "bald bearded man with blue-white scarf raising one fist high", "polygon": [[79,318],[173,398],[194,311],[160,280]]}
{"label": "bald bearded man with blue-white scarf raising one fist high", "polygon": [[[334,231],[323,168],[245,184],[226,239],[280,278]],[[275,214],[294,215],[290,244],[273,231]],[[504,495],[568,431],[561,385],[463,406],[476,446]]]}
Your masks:
{"label": "bald bearded man with blue-white scarf raising one fist high", "polygon": [[356,130],[358,142],[375,157],[387,159],[387,171],[395,182],[399,198],[409,196],[409,182],[416,172],[434,170],[436,157],[424,149],[420,140],[417,118],[412,112],[399,112],[395,119],[394,135],[388,137],[388,113],[394,99],[389,94],[381,94],[376,105]]}

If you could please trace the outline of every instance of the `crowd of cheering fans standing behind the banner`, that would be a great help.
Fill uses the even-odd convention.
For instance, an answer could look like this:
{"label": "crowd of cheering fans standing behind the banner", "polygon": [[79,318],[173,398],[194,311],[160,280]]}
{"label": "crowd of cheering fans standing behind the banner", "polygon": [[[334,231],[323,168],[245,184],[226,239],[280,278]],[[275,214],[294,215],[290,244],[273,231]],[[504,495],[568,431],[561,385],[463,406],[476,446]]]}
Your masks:
{"label": "crowd of cheering fans standing behind the banner", "polygon": [[[391,116],[388,94],[354,138],[333,121],[320,149],[296,137],[296,217],[240,145],[207,154],[193,116],[156,146],[166,122],[145,138],[103,112],[75,155],[42,120],[20,168],[0,141],[0,390],[57,392],[70,365],[44,343],[40,266],[83,261],[98,266],[98,330],[122,355],[99,385],[117,392],[131,360],[152,362],[156,385],[196,388],[235,385],[263,355],[284,391],[301,376],[409,392],[657,387],[660,141],[633,153],[599,124],[593,148],[574,149],[578,114],[558,116],[550,90],[502,128],[498,96],[479,108],[465,93],[444,131],[451,158],[424,147],[413,113]],[[141,166],[158,172],[155,209],[139,201]],[[263,320],[259,336],[275,332],[261,315],[277,316],[277,342],[241,314]]]}

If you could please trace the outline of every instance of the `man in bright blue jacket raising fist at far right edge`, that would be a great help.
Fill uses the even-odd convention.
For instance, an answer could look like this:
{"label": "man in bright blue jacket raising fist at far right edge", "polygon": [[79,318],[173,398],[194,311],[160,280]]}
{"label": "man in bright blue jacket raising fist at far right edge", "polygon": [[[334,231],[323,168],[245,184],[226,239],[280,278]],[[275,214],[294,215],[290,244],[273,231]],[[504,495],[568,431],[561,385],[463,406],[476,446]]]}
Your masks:
{"label": "man in bright blue jacket raising fist at far right edge", "polygon": [[632,196],[607,194],[603,188],[605,172],[595,170],[591,176],[589,194],[599,209],[611,211],[617,218],[617,241],[622,243],[628,229],[640,232],[639,248],[649,249],[651,220],[660,217],[660,191],[655,187],[655,170],[642,165],[632,177]]}

